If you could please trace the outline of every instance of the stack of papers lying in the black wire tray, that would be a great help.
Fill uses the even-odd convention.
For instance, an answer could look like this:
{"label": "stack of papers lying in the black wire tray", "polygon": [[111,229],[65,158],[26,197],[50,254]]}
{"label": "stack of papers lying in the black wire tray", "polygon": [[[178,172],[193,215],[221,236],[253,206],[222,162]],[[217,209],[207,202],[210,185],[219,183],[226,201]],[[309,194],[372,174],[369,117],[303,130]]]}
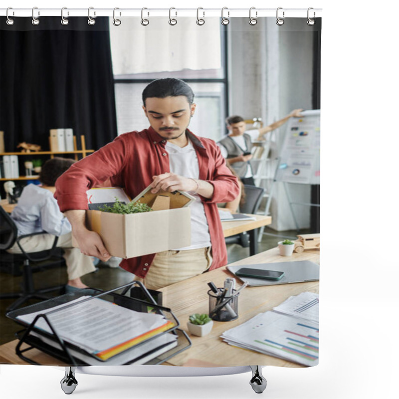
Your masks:
{"label": "stack of papers lying in the black wire tray", "polygon": [[[66,305],[18,318],[30,324],[38,314],[46,313],[57,335],[80,349],[72,349],[71,355],[92,366],[103,365],[104,361],[107,361],[107,365],[121,365],[132,361],[133,364],[143,364],[177,346],[175,335],[160,335],[175,327],[174,323],[162,315],[136,312],[100,298],[77,303],[88,298],[91,297],[83,296]],[[74,305],[69,306],[71,304]],[[54,310],[57,311],[49,313]],[[43,318],[38,319],[35,326],[51,334]],[[160,336],[138,346],[157,335]],[[58,343],[51,339],[37,332],[35,336],[59,349]]]}

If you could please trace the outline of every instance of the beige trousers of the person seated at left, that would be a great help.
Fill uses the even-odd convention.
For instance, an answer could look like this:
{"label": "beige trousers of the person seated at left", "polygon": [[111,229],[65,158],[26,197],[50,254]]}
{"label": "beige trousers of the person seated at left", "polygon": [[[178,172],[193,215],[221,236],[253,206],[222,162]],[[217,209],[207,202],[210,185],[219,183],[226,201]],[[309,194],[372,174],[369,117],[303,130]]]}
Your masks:
{"label": "beige trousers of the person seated at left", "polygon": [[[38,234],[21,240],[20,244],[25,252],[39,252],[50,249],[53,242],[54,235]],[[64,250],[63,257],[66,263],[68,280],[74,280],[96,269],[90,256],[83,255],[79,248],[74,248],[72,246],[71,233],[60,235],[58,237],[57,247]],[[21,253],[21,250],[15,243],[7,252]]]}

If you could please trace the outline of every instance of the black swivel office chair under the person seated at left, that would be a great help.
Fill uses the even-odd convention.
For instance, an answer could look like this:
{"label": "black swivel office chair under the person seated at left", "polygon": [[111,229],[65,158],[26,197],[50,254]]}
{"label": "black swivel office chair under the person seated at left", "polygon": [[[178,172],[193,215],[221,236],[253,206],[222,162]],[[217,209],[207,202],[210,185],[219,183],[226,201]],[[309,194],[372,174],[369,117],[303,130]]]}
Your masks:
{"label": "black swivel office chair under the person seated at left", "polygon": [[[39,233],[31,233],[26,235],[17,236],[17,227],[8,213],[0,206],[0,251],[1,251],[1,263],[15,263],[15,262],[23,262],[22,266],[22,283],[21,283],[21,292],[12,292],[1,294],[0,299],[7,299],[7,298],[19,298],[15,302],[13,302],[8,308],[7,312],[16,309],[23,303],[27,302],[29,299],[49,299],[50,297],[47,295],[43,295],[46,292],[60,290],[64,287],[63,285],[57,285],[53,287],[43,288],[43,289],[35,289],[33,283],[33,275],[32,275],[32,267],[29,262],[41,262],[43,260],[49,260],[56,256],[56,251],[59,250],[57,248],[58,237],[54,238],[53,245],[50,249],[40,252],[30,252],[27,253],[24,251],[21,240],[25,237],[30,237],[37,234],[43,234],[44,231]],[[11,248],[14,243],[17,243],[18,247],[22,251],[21,254],[11,254],[6,252],[5,250]],[[32,256],[34,255],[34,256]],[[43,265],[43,267],[53,266],[55,263],[62,263],[64,259],[60,256],[48,264]],[[40,267],[41,269],[42,267]]]}

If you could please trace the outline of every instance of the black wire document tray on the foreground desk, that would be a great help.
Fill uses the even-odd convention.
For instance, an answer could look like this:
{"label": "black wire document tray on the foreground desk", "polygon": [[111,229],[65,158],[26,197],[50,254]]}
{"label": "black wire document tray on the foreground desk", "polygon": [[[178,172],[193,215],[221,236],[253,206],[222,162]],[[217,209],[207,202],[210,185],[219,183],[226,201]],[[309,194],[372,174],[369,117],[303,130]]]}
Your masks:
{"label": "black wire document tray on the foreground desk", "polygon": [[[138,285],[139,287],[141,287],[145,296],[152,303],[126,296],[126,292],[128,292],[128,290],[133,285]],[[116,291],[119,291],[119,290],[123,290],[123,292],[117,293]],[[172,321],[175,324],[171,329],[169,329],[165,332],[162,332],[154,337],[150,337],[149,339],[137,344],[136,347],[143,345],[144,343],[148,343],[149,341],[153,340],[154,338],[160,337],[160,335],[166,334],[166,333],[171,333],[171,334],[175,334],[178,336],[177,347],[172,348],[169,351],[159,355],[159,357],[150,360],[149,362],[145,363],[146,365],[147,364],[156,365],[156,364],[166,362],[171,357],[188,349],[191,346],[191,341],[190,341],[189,337],[187,336],[187,334],[184,331],[178,329],[180,324],[179,324],[178,320],[176,319],[176,317],[173,315],[172,311],[168,308],[165,308],[163,306],[156,304],[154,299],[151,297],[151,295],[149,294],[147,289],[142,285],[142,283],[138,282],[138,281],[133,281],[132,283],[126,284],[121,287],[117,287],[113,290],[106,291],[106,292],[103,292],[98,289],[93,289],[93,288],[83,288],[83,289],[80,289],[80,290],[77,290],[77,291],[74,291],[74,292],[71,292],[71,293],[68,293],[65,295],[61,295],[61,296],[58,296],[55,298],[48,299],[43,302],[39,302],[34,305],[26,306],[24,308],[16,309],[11,312],[8,312],[6,314],[6,316],[8,318],[10,318],[10,319],[14,320],[16,323],[21,324],[24,327],[26,327],[24,330],[16,333],[16,336],[19,339],[19,343],[16,346],[16,354],[18,355],[18,357],[30,364],[38,364],[37,362],[35,362],[31,359],[28,359],[23,355],[24,352],[27,352],[32,348],[37,348],[37,349],[43,351],[44,353],[46,353],[50,356],[53,356],[54,358],[57,358],[57,359],[61,360],[63,363],[66,363],[70,366],[90,366],[89,364],[83,362],[82,360],[74,358],[69,353],[69,349],[73,349],[79,353],[86,355],[86,356],[92,356],[92,355],[71,343],[63,341],[60,337],[58,337],[56,331],[51,326],[51,323],[49,322],[49,320],[45,314],[40,314],[40,315],[36,316],[36,318],[34,319],[34,321],[31,324],[25,323],[25,322],[21,321],[20,319],[17,319],[18,316],[33,313],[33,312],[39,312],[41,310],[44,311],[48,308],[68,303],[68,302],[70,302],[74,299],[80,298],[82,296],[91,296],[92,298],[101,298],[101,299],[110,300],[111,302],[113,302],[117,305],[124,306],[128,309],[132,309],[132,310],[139,311],[139,312],[144,312],[144,313],[153,312],[153,313],[157,313],[157,314],[162,314],[167,320]],[[90,299],[86,299],[86,300],[90,300]],[[84,301],[85,300],[82,300],[81,302],[78,302],[78,303],[82,303]],[[70,306],[72,307],[74,305],[72,304]],[[35,323],[39,318],[43,318],[47,322],[47,324],[49,325],[50,329],[53,331],[54,334],[47,333],[47,332],[35,327]],[[32,335],[33,332],[42,336],[43,339],[53,341],[61,349],[54,348],[52,345],[49,345],[49,344],[43,342],[41,339]],[[29,345],[29,347],[21,350],[21,345],[23,343]],[[99,360],[98,358],[96,358],[96,359]],[[134,364],[134,361],[138,361],[138,360],[139,359],[134,359],[131,362],[127,362],[127,363],[123,363],[123,364]],[[107,360],[102,361],[102,364],[107,365]]]}

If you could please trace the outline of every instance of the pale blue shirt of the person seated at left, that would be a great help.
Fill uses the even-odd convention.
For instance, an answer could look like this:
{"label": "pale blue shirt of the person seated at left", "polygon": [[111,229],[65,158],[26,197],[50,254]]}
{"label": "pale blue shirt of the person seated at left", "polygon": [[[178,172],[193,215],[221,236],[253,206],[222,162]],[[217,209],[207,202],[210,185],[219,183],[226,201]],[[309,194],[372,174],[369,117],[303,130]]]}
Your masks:
{"label": "pale blue shirt of the person seated at left", "polygon": [[53,193],[34,184],[28,184],[11,212],[18,228],[18,236],[46,231],[63,235],[71,231],[71,225],[59,210]]}

